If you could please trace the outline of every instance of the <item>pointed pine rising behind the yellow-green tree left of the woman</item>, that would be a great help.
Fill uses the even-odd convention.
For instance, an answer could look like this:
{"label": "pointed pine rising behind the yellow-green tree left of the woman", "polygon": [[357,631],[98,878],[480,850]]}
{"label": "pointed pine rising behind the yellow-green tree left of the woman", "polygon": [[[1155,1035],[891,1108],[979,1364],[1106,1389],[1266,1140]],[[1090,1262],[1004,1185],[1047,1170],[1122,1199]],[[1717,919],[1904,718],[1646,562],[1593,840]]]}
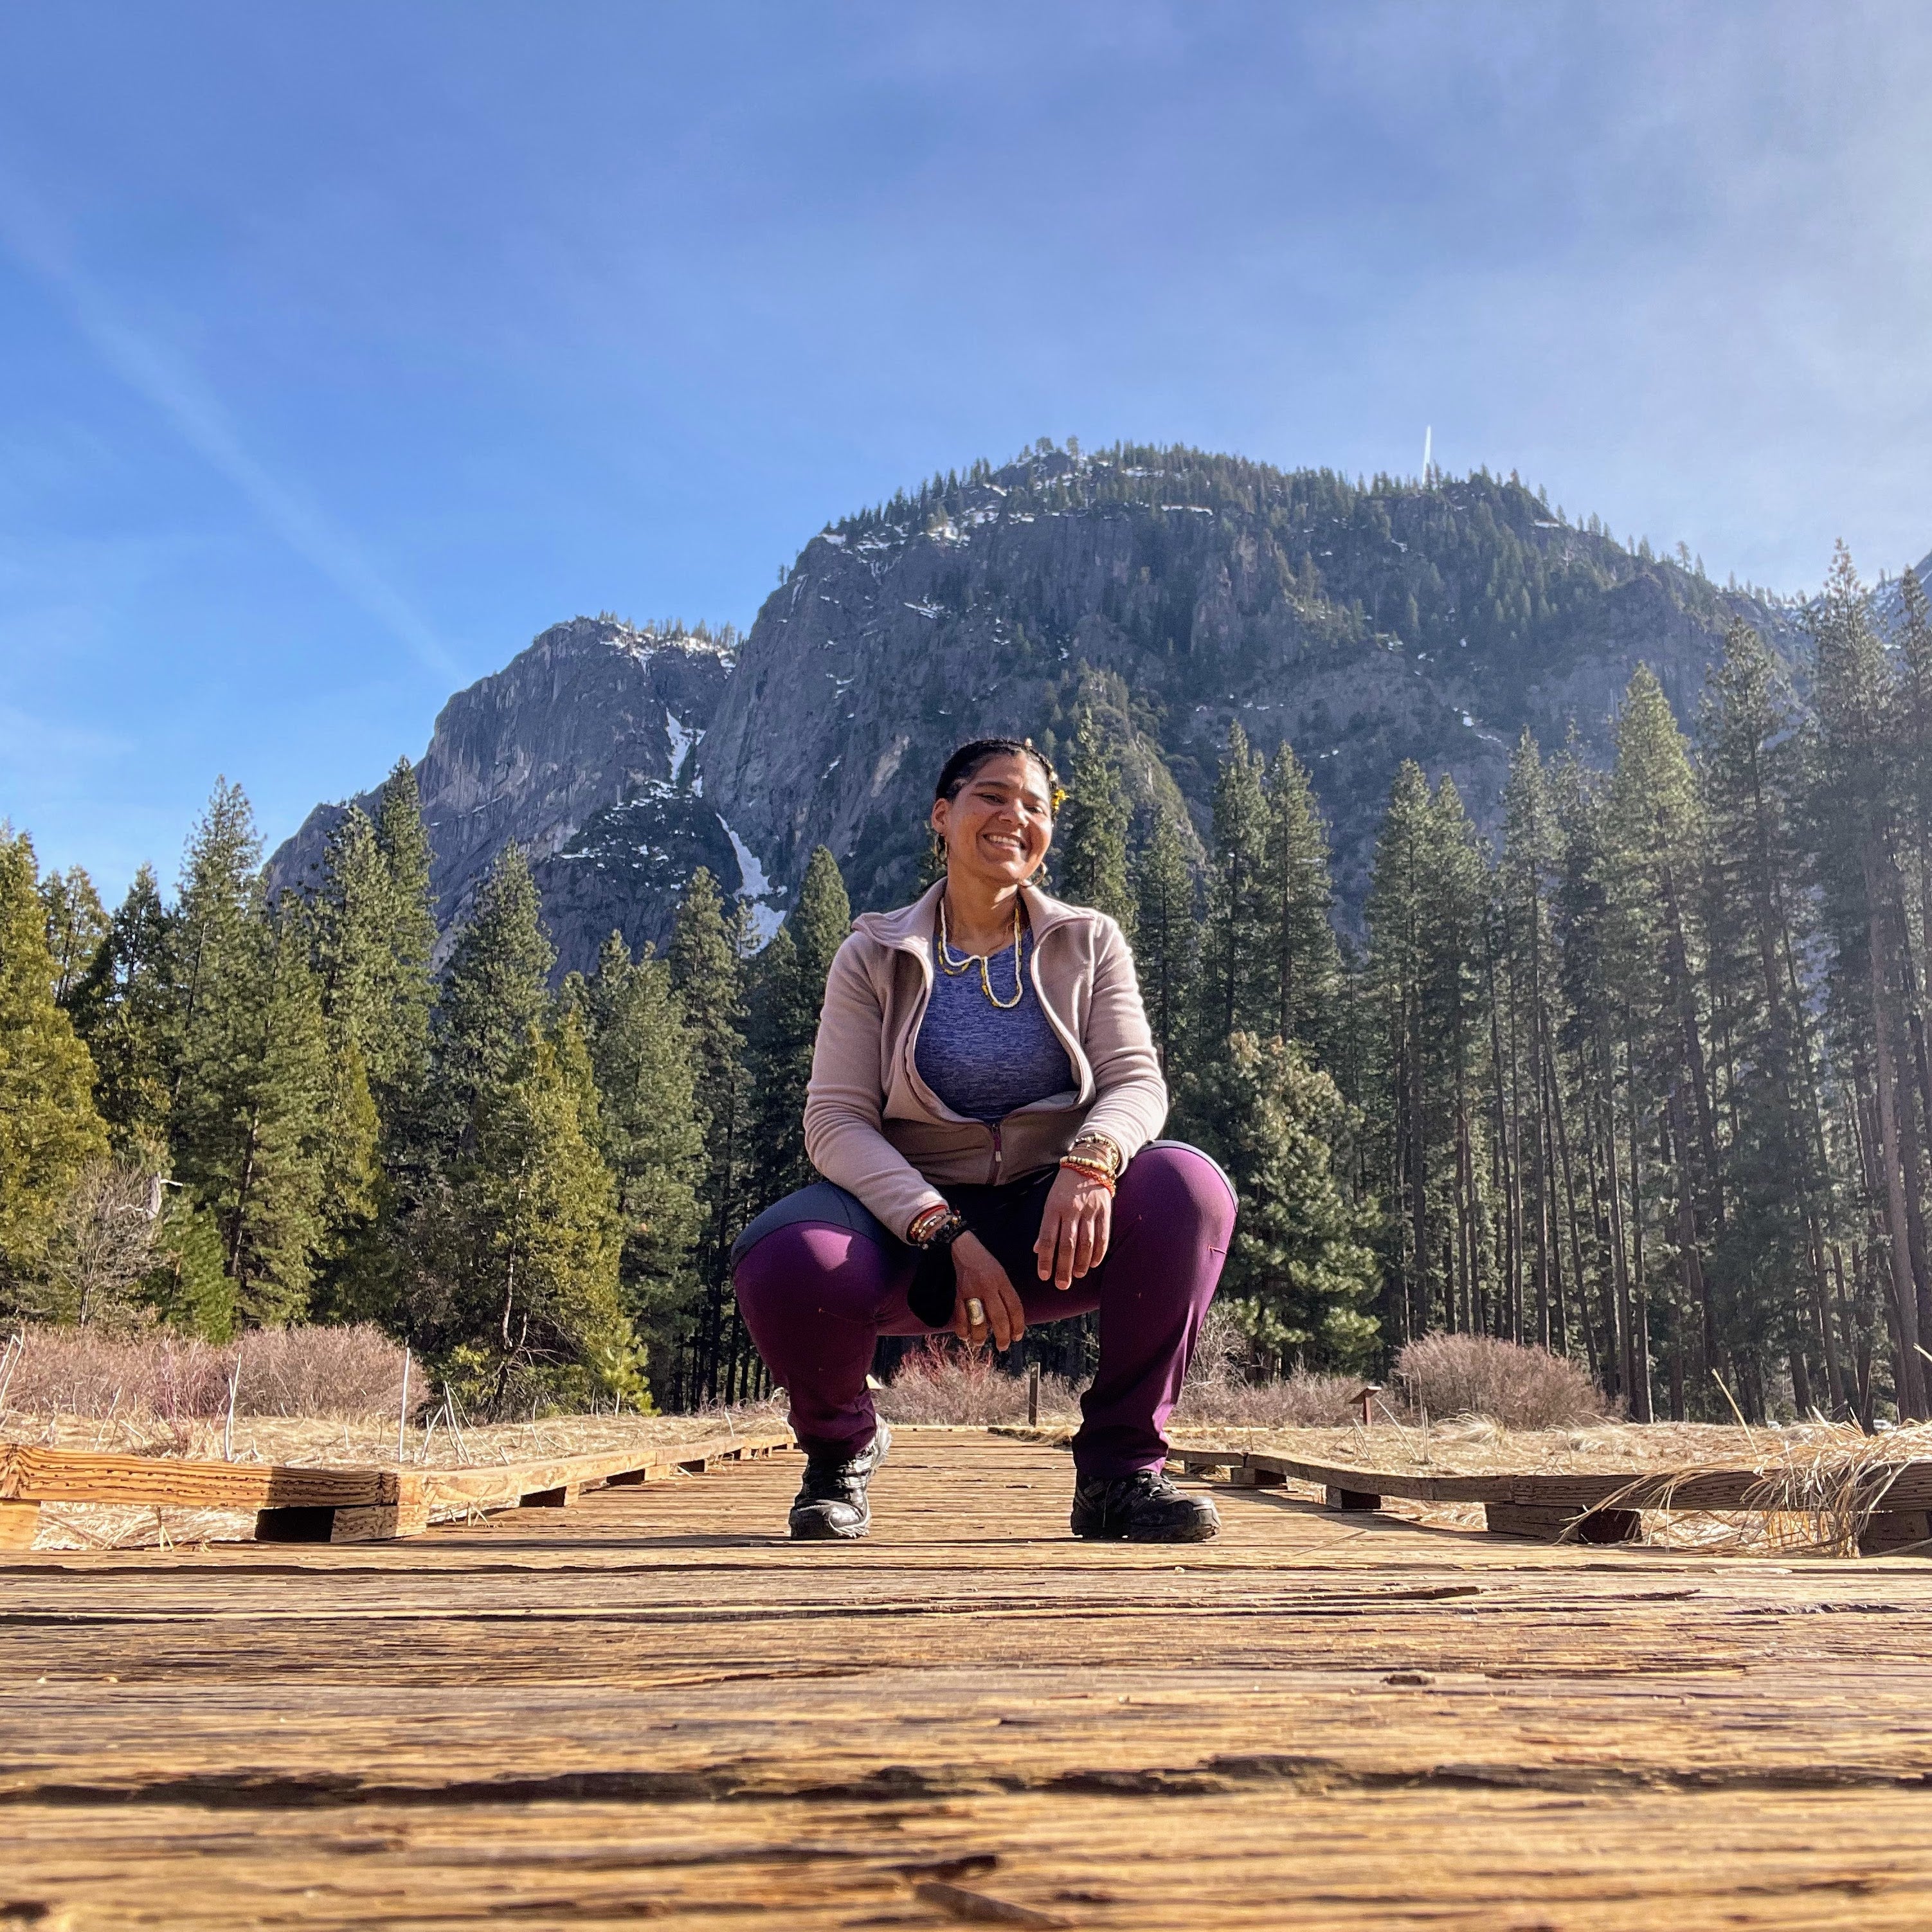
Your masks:
{"label": "pointed pine rising behind the yellow-green tree left of the woman", "polygon": [[442,1161],[456,1159],[479,1111],[524,1076],[554,964],[529,862],[522,846],[506,844],[456,939],[437,1003],[427,1117]]}

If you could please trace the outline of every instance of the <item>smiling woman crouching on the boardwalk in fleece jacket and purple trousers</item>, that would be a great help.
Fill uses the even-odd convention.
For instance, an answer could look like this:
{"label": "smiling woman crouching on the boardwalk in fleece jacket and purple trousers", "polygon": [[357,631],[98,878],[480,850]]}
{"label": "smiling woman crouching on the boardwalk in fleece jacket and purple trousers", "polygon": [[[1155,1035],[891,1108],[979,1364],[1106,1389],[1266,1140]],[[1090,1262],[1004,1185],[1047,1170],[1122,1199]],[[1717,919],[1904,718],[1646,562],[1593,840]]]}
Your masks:
{"label": "smiling woman crouching on the boardwalk in fleece jacket and purple trousers", "polygon": [[1167,1119],[1134,960],[1101,912],[1028,881],[1055,779],[1012,738],[947,759],[947,875],[852,922],[825,987],[806,1151],[825,1177],[738,1238],[738,1306],[792,1403],[796,1538],[864,1536],[891,1430],[881,1335],[1010,1349],[1099,1310],[1074,1435],[1074,1536],[1204,1542],[1213,1505],[1165,1476],[1163,1428],[1235,1225],[1221,1169]]}

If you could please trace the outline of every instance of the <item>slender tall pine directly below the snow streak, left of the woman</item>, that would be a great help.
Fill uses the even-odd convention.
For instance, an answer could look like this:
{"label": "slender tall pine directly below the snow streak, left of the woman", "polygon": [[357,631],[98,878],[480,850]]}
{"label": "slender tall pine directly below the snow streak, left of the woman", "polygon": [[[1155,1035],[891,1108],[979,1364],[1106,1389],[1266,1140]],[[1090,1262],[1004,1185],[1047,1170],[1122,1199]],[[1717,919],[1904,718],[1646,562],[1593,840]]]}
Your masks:
{"label": "slender tall pine directly below the snow streak, left of the woman", "polygon": [[744,1213],[748,1094],[740,927],[726,920],[717,881],[703,866],[692,873],[678,902],[668,956],[670,983],[692,1030],[694,1101],[705,1144],[697,1184],[703,1229],[696,1254],[703,1308],[680,1393],[686,1401],[715,1401],[732,1368],[736,1310],[728,1308],[728,1277],[730,1244]]}

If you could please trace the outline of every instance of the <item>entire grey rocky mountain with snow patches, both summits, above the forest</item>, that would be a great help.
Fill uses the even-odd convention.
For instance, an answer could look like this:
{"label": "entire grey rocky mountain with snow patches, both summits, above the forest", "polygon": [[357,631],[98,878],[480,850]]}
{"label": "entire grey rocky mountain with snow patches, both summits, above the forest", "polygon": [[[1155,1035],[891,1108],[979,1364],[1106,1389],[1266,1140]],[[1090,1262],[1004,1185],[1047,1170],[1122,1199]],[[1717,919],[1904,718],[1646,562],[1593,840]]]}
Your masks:
{"label": "entire grey rocky mountain with snow patches, both summits, above the forest", "polygon": [[[732,653],[609,618],[545,632],[437,721],[419,777],[439,918],[529,850],[560,970],[663,941],[697,864],[775,908],[829,844],[856,906],[912,891],[931,777],[962,738],[1053,752],[1094,705],[1136,806],[1206,829],[1238,721],[1314,771],[1343,914],[1403,757],[1493,823],[1528,726],[1607,752],[1648,663],[1690,717],[1733,616],[1789,620],[1578,529],[1515,481],[1350,485],[1188,450],[1039,450],[827,527]],[[274,875],[315,875],[340,806]],[[767,879],[769,873],[769,879]]]}

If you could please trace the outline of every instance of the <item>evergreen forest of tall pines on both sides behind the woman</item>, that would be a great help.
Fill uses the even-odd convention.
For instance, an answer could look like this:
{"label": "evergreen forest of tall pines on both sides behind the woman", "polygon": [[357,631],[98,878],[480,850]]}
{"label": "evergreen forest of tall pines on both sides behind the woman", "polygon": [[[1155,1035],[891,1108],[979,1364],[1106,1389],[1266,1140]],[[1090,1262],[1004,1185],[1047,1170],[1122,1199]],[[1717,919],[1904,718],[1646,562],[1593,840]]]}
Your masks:
{"label": "evergreen forest of tall pines on both sides behind the woman", "polygon": [[[1126,929],[1236,1184],[1254,1374],[1463,1331],[1638,1420],[1932,1414],[1932,618],[1839,553],[1803,624],[1803,697],[1735,622],[1694,719],[1638,668],[1607,769],[1524,730],[1493,840],[1403,763],[1360,935],[1289,744],[1235,724],[1196,825],[1101,713],[1061,738],[1049,885]],[[763,947],[697,869],[663,954],[562,980],[516,844],[440,947],[429,879],[406,761],[305,893],[230,784],[112,912],[0,837],[6,1310],[373,1320],[471,1414],[759,1393],[730,1244],[811,1177],[833,854]]]}

